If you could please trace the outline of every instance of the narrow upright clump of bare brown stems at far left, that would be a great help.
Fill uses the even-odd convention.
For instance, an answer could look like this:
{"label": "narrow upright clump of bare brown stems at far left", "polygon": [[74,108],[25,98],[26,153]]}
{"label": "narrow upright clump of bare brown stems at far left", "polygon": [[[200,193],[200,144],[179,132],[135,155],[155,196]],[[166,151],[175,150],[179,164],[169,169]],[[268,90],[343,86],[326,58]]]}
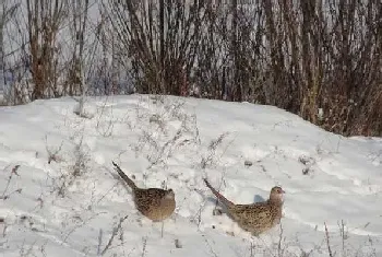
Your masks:
{"label": "narrow upright clump of bare brown stems at far left", "polygon": [[33,92],[31,100],[60,96],[58,79],[60,51],[57,36],[68,15],[69,2],[27,0],[27,32]]}

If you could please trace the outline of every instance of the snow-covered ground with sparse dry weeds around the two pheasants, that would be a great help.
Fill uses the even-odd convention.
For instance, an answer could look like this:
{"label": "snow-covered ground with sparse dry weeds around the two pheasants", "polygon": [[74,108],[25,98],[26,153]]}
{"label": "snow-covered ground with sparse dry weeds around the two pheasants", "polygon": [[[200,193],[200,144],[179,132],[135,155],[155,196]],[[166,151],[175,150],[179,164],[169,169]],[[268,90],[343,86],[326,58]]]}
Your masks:
{"label": "snow-covered ground with sparse dry weeds around the two pheasants", "polygon": [[[343,138],[271,106],[131,95],[0,108],[0,255],[382,256],[382,139]],[[111,161],[176,192],[171,219],[134,208]],[[19,166],[17,166],[19,165]],[[237,203],[286,190],[282,226],[240,230]],[[215,215],[213,214],[215,213]]]}

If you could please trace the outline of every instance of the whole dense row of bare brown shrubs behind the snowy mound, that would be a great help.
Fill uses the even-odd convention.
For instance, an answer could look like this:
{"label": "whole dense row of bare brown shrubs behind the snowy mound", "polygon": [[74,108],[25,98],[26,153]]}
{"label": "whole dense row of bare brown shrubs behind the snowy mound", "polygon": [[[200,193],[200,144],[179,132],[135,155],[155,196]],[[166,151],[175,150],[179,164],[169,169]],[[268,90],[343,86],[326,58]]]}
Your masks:
{"label": "whole dense row of bare brown shrubs behind the snowy mound", "polygon": [[[133,86],[275,105],[330,131],[382,136],[380,0],[110,0],[89,28],[88,1],[52,2],[27,1],[32,100]],[[74,44],[60,65],[64,20]]]}

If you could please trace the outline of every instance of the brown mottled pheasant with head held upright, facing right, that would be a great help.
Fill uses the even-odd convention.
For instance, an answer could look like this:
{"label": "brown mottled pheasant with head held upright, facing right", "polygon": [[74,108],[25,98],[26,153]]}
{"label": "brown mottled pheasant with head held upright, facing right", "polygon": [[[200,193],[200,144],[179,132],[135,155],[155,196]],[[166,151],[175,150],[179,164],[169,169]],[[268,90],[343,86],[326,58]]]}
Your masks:
{"label": "brown mottled pheasant with head held upright, facing right", "polygon": [[216,191],[207,179],[204,179],[204,183],[219,202],[227,208],[228,215],[244,231],[258,236],[279,223],[283,215],[283,194],[285,192],[280,187],[273,187],[270,199],[264,202],[235,205]]}

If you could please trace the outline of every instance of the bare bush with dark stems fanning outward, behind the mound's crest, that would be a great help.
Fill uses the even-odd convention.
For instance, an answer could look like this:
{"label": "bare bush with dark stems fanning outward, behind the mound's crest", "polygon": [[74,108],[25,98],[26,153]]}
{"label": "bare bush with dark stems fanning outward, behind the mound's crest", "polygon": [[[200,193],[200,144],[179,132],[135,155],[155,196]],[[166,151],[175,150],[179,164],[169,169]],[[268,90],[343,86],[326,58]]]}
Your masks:
{"label": "bare bush with dark stems fanning outward, behind the mound's crest", "polygon": [[109,1],[121,61],[141,93],[187,95],[201,38],[200,1]]}

